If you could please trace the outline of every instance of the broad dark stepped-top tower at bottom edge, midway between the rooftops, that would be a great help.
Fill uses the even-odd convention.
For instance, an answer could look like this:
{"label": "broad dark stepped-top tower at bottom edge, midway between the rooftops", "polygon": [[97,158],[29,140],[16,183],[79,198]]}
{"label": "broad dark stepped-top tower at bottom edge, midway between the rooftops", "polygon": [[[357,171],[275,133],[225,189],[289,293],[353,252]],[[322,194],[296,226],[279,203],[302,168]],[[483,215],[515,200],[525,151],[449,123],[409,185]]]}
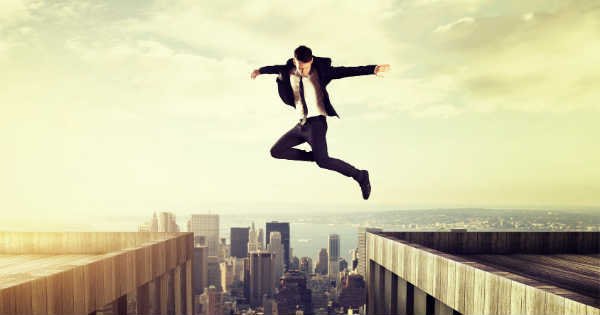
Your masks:
{"label": "broad dark stepped-top tower at bottom edge, midway between the rooftops", "polygon": [[275,300],[279,314],[297,314],[297,311],[312,314],[311,290],[306,287],[306,275],[300,271],[286,272]]}

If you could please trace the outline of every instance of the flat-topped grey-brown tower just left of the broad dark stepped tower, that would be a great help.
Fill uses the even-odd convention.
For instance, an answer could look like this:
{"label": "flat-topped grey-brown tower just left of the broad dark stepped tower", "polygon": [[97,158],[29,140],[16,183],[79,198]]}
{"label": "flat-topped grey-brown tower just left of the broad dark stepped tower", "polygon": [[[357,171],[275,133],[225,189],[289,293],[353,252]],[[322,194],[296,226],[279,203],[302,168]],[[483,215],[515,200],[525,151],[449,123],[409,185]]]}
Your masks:
{"label": "flat-topped grey-brown tower just left of the broad dark stepped tower", "polygon": [[267,251],[248,253],[250,260],[250,306],[262,305],[263,296],[272,296],[273,286],[273,254]]}

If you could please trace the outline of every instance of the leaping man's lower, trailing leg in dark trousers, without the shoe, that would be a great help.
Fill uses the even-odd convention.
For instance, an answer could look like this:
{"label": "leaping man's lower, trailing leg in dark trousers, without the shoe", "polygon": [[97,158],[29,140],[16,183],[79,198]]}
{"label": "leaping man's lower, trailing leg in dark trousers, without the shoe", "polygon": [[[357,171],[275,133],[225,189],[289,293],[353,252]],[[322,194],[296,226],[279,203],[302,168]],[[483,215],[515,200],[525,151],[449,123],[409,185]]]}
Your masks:
{"label": "leaping man's lower, trailing leg in dark trousers, without the shoe", "polygon": [[336,158],[329,156],[327,152],[327,122],[323,120],[314,120],[309,126],[311,133],[308,138],[308,143],[312,147],[313,156],[317,165],[321,168],[336,171],[348,177],[354,178],[356,181],[361,181],[364,176],[360,170],[354,166]]}

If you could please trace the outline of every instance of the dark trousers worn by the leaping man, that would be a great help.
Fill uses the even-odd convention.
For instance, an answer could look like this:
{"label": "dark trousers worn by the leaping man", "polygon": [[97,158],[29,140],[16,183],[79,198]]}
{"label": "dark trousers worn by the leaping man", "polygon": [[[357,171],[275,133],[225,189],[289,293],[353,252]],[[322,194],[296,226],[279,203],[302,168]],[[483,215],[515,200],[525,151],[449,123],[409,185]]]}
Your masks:
{"label": "dark trousers worn by the leaping man", "polygon": [[[342,175],[358,180],[360,171],[354,166],[327,153],[327,120],[325,116],[310,117],[304,125],[296,124],[286,132],[271,148],[271,156],[277,159],[295,161],[314,161],[321,168],[336,171]],[[308,142],[312,151],[307,152],[293,148]]]}

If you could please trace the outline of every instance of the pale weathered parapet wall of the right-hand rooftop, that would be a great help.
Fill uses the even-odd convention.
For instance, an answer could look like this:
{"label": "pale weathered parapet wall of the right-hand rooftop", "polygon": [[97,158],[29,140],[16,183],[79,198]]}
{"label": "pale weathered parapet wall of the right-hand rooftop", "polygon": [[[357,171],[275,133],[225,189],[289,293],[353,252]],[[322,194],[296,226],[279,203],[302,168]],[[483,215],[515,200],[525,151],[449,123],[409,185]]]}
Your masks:
{"label": "pale weathered parapet wall of the right-hand rooftop", "polygon": [[[596,307],[571,299],[571,295],[564,293],[566,290],[550,290],[547,284],[479,265],[462,256],[390,239],[384,234],[366,235],[368,314],[410,314],[413,311],[434,314],[436,310],[437,314],[447,314],[450,310],[460,314],[600,312]],[[444,237],[447,240],[452,234],[431,236],[431,241]],[[527,236],[519,237],[527,243]],[[541,237],[562,236],[531,234],[530,237],[543,244]],[[445,244],[448,246],[447,241]],[[475,242],[473,246],[479,245]],[[473,251],[465,247],[462,250]]]}

